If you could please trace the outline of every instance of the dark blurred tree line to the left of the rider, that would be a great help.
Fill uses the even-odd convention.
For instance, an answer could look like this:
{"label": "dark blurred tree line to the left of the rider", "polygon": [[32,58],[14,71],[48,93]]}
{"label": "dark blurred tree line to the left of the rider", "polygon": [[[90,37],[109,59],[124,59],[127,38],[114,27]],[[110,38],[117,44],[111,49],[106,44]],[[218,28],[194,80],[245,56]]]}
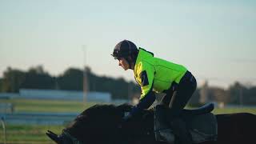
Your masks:
{"label": "dark blurred tree line to the left of the rider", "polygon": [[89,91],[109,92],[112,98],[128,98],[139,93],[134,82],[126,82],[123,78],[110,78],[94,74],[90,67],[85,70],[69,68],[52,76],[43,66],[34,66],[27,71],[8,67],[0,78],[0,92],[18,93],[19,89],[42,90],[83,90],[83,79],[86,74]]}

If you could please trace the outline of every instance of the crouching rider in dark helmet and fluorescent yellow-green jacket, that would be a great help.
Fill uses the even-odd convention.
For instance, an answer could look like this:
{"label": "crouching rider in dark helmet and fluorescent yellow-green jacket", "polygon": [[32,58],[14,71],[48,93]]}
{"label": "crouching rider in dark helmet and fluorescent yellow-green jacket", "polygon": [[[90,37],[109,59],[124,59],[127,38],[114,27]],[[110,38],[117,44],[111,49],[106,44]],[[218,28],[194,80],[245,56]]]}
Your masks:
{"label": "crouching rider in dark helmet and fluorescent yellow-green jacket", "polygon": [[134,78],[142,90],[138,104],[123,118],[124,121],[149,108],[155,100],[154,92],[165,93],[161,104],[169,106],[169,113],[166,116],[174,135],[182,144],[191,144],[192,138],[186,130],[186,124],[179,118],[179,114],[197,87],[197,82],[190,71],[182,65],[154,58],[153,53],[137,48],[128,40],[118,42],[111,55],[118,59],[118,65],[124,70],[134,70]]}

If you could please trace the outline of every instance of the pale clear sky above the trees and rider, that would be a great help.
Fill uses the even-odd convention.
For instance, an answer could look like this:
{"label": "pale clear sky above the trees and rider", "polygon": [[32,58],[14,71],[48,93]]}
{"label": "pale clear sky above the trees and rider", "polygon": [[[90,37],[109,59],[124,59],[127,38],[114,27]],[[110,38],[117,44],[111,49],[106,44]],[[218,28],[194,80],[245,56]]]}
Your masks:
{"label": "pale clear sky above the trees and rider", "polygon": [[130,81],[110,56],[128,39],[186,66],[199,85],[256,85],[255,32],[254,0],[0,0],[0,77],[7,66],[82,69],[86,55],[94,73]]}

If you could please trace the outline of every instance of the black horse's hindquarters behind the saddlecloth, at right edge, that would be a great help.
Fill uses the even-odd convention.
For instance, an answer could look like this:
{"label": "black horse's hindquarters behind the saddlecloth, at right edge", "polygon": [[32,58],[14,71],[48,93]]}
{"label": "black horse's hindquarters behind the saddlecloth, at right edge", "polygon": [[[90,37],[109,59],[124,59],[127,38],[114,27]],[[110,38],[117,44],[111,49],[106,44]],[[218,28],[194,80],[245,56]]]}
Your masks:
{"label": "black horse's hindquarters behind the saddlecloth, at right edge", "polygon": [[250,113],[217,114],[218,144],[256,143],[256,115]]}

